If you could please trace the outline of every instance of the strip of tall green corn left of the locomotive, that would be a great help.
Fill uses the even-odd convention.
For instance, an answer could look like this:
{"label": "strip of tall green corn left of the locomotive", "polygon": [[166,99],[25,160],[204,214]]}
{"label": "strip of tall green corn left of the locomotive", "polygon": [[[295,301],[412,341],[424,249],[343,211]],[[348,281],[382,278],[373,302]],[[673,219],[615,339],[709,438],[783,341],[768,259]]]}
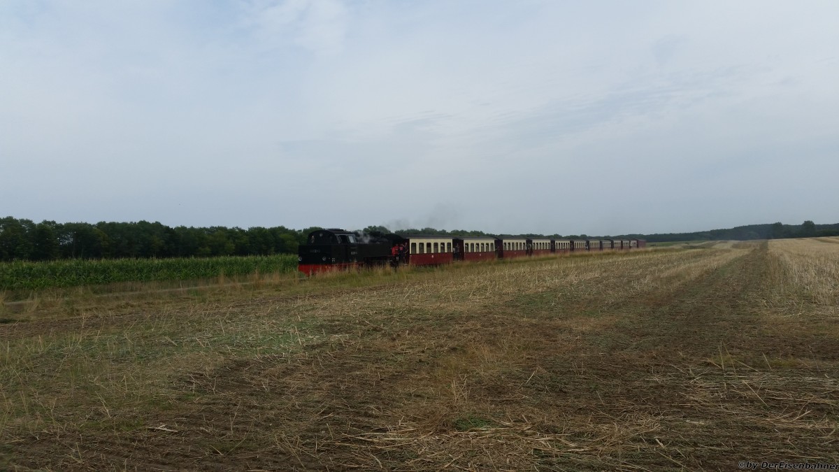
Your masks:
{"label": "strip of tall green corn left of the locomotive", "polygon": [[0,263],[0,290],[40,290],[134,281],[189,281],[271,274],[297,269],[297,256],[222,256],[190,259],[54,260]]}

